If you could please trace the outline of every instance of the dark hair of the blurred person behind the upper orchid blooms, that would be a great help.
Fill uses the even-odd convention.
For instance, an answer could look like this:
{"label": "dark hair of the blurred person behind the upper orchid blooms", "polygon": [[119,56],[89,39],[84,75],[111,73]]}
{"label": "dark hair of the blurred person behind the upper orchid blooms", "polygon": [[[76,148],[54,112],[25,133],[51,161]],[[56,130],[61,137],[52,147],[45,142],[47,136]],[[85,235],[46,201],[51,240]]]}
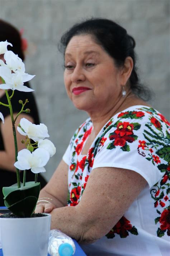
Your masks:
{"label": "dark hair of the blurred person behind the upper orchid blooms", "polygon": [[13,47],[8,45],[8,50],[18,54],[18,57],[24,60],[22,40],[19,31],[10,23],[0,19],[0,41],[6,40],[13,45]]}

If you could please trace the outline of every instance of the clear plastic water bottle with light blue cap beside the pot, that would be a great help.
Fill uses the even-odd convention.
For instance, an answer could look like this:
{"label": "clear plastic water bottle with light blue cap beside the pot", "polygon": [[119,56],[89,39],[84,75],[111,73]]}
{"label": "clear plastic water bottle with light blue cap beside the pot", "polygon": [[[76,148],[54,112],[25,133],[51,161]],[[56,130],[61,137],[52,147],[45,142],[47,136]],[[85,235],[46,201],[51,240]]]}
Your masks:
{"label": "clear plastic water bottle with light blue cap beside the pot", "polygon": [[51,256],[72,256],[75,250],[75,244],[71,237],[57,229],[52,229],[49,232],[48,253]]}

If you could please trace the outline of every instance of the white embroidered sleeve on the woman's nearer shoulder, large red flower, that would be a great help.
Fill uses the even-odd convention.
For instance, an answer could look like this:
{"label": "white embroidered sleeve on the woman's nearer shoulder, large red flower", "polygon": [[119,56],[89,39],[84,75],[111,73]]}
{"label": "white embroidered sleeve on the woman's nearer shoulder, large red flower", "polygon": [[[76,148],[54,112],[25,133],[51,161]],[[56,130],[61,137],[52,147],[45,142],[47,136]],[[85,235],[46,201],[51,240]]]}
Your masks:
{"label": "white embroidered sleeve on the woman's nearer shoulder, large red flower", "polygon": [[157,129],[149,118],[142,122],[130,121],[119,121],[102,134],[94,151],[92,169],[117,167],[133,170],[142,175],[151,188],[164,175],[161,166],[168,164],[165,158],[161,158],[161,150],[167,146],[167,127],[161,123],[161,129]]}

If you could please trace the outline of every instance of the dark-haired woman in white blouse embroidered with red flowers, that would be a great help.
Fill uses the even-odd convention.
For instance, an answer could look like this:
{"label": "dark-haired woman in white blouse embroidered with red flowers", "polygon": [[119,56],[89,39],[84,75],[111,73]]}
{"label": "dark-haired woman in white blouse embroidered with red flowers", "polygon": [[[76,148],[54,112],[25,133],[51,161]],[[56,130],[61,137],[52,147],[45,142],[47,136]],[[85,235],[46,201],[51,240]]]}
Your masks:
{"label": "dark-haired woman in white blouse embroidered with red flowers", "polygon": [[167,255],[169,122],[142,99],[135,41],[113,21],[89,19],[61,43],[67,94],[90,117],[36,212],[51,213],[51,228],[86,244],[87,255]]}

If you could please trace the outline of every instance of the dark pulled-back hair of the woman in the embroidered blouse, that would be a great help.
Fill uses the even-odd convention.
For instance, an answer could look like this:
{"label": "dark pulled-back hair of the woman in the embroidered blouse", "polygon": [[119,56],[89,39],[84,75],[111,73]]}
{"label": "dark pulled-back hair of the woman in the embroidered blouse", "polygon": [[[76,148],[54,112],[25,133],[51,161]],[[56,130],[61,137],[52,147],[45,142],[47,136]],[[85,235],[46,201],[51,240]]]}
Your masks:
{"label": "dark pulled-back hair of the woman in the embroidered blouse", "polygon": [[91,18],[86,21],[76,23],[61,37],[58,49],[65,54],[67,45],[71,38],[76,35],[92,35],[97,44],[114,59],[115,65],[121,67],[125,59],[129,56],[133,59],[133,69],[129,82],[134,94],[143,100],[151,99],[151,91],[146,86],[140,84],[137,74],[136,53],[134,51],[136,42],[132,36],[128,35],[126,29],[119,24],[103,18]]}

